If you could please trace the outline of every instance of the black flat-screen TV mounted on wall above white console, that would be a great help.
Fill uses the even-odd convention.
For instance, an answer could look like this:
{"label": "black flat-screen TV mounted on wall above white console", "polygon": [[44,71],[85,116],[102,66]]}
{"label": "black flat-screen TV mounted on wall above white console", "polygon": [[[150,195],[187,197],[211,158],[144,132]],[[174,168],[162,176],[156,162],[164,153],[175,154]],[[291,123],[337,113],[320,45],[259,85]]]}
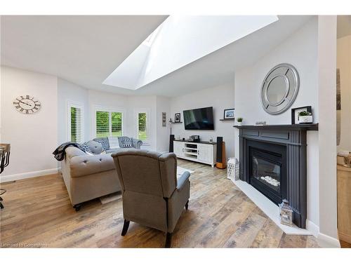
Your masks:
{"label": "black flat-screen TV mounted on wall above white console", "polygon": [[214,130],[213,107],[183,111],[185,130]]}

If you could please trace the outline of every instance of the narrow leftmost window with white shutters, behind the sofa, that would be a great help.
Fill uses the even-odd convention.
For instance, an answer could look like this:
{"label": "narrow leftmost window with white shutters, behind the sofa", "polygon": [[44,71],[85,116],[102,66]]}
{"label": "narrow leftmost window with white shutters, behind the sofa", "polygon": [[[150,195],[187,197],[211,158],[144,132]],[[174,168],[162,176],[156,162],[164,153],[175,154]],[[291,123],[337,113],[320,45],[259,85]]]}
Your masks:
{"label": "narrow leftmost window with white shutters, behind the sofa", "polygon": [[77,102],[68,102],[68,140],[84,142],[84,107]]}

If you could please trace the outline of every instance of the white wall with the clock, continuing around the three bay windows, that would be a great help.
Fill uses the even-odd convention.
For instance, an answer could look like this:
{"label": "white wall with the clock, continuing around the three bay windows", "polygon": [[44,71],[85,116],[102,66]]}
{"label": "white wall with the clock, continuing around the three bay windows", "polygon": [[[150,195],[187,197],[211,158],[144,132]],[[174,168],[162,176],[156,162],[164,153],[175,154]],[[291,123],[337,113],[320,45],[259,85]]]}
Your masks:
{"label": "white wall with the clock, continuing around the three bay windows", "polygon": [[[88,90],[56,76],[1,67],[0,89],[1,143],[11,143],[10,165],[1,173],[1,181],[57,173],[58,163],[52,152],[68,140],[67,102],[84,104],[84,140],[93,138],[94,106],[124,109],[125,135],[136,137],[138,109],[148,109],[150,144],[143,149],[157,149],[157,97],[126,96]],[[13,107],[20,95],[32,95],[41,102],[35,114],[22,114]],[[165,110],[167,98],[159,98],[159,109]],[[161,117],[159,118],[161,119]],[[164,131],[159,130],[159,149],[165,149]]]}

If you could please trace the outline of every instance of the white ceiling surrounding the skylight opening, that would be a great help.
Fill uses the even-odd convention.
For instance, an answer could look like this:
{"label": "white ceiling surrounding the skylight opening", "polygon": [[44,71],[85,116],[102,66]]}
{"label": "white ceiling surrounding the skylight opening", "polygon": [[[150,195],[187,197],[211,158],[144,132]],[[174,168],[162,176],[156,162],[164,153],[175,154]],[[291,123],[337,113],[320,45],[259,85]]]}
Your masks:
{"label": "white ceiling surrounding the skylight opening", "polygon": [[1,65],[52,74],[95,90],[176,96],[232,81],[236,69],[251,65],[310,18],[279,16],[279,21],[157,81],[126,90],[102,82],[166,16],[2,16]]}

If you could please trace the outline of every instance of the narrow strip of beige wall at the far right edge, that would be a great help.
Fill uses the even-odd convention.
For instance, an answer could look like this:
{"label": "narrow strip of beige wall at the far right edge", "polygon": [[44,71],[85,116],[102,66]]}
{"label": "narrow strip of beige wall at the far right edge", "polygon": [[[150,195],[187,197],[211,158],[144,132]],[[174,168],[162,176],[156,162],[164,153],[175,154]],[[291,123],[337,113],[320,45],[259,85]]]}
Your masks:
{"label": "narrow strip of beige wall at the far right edge", "polygon": [[337,41],[336,67],[340,69],[341,111],[338,150],[351,151],[351,36]]}

